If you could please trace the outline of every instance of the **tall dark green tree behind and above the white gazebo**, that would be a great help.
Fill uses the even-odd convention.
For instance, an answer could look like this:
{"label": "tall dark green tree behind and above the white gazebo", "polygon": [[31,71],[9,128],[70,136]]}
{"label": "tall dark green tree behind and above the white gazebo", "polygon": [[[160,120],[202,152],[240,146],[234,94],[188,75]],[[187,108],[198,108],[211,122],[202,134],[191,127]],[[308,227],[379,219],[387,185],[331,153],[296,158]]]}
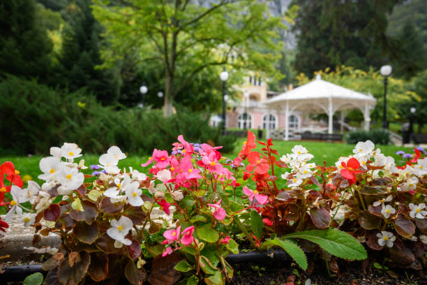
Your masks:
{"label": "tall dark green tree behind and above the white gazebo", "polygon": [[313,74],[345,64],[368,71],[398,58],[396,41],[385,34],[395,0],[294,0],[300,7],[294,29],[295,68]]}

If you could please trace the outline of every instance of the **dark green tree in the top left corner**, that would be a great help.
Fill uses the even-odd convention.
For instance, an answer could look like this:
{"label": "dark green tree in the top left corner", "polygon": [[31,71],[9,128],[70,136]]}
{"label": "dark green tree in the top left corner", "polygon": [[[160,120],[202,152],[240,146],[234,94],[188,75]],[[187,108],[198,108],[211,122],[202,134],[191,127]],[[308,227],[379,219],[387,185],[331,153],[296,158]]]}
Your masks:
{"label": "dark green tree in the top left corner", "polygon": [[0,73],[45,80],[52,43],[40,27],[33,0],[3,1],[0,5]]}

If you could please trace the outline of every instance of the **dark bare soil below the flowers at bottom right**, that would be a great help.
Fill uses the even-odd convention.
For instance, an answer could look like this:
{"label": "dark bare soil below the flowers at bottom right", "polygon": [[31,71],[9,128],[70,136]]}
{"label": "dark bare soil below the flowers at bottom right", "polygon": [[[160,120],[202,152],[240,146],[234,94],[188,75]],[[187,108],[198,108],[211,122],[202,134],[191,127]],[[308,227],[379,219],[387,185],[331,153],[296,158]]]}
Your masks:
{"label": "dark bare soil below the flowers at bottom right", "polygon": [[[345,264],[345,263],[344,263]],[[311,280],[311,285],[345,284],[345,285],[423,285],[427,284],[427,272],[416,270],[391,269],[389,273],[375,268],[362,268],[361,262],[348,262],[347,268],[340,268],[338,275],[329,277],[324,261],[317,261],[309,265],[309,270],[304,271],[298,265],[289,261],[268,261],[264,263],[239,263],[233,264],[234,285],[285,285],[287,282],[304,285],[306,280]],[[310,271],[310,268],[313,270]],[[288,285],[287,284],[287,285]]]}

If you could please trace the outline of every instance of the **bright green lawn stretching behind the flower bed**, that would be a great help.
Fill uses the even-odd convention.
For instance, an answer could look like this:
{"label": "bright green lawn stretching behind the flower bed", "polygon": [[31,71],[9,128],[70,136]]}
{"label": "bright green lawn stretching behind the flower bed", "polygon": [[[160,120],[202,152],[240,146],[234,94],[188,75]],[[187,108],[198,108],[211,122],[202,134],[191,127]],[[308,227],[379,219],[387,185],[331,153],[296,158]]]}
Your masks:
{"label": "bright green lawn stretching behind the flower bed", "polygon": [[[230,159],[234,159],[234,157],[237,156],[241,149],[241,145],[245,140],[243,138],[239,138],[236,142],[236,148],[234,149],[234,152],[232,154],[223,154],[224,156],[229,157]],[[313,162],[315,162],[317,165],[322,165],[323,161],[327,162],[327,166],[334,165],[334,163],[337,161],[337,159],[340,156],[348,156],[352,154],[352,149],[354,148],[354,145],[346,145],[343,143],[329,143],[329,142],[306,142],[306,141],[280,141],[276,140],[274,141],[274,149],[277,149],[280,156],[286,153],[290,153],[292,147],[294,145],[303,145],[308,149],[308,151],[315,156],[313,159]],[[405,147],[398,147],[393,145],[387,145],[387,146],[378,146],[382,150],[382,153],[384,153],[387,156],[393,156],[396,159],[396,163],[403,164],[403,161],[401,161],[401,157],[396,155],[396,152],[398,150],[403,150],[404,152],[412,152],[412,149],[405,148]],[[48,156],[49,152],[46,152],[46,156]],[[40,175],[40,169],[38,168],[38,162],[43,156],[6,156],[6,157],[0,157],[0,163],[3,161],[12,161],[15,164],[15,168],[17,170],[20,170],[20,173],[22,176],[24,175],[30,175],[34,180],[40,182],[37,180],[37,176]],[[99,155],[94,154],[85,154],[82,156],[82,159],[86,161],[86,165],[90,166],[91,164],[98,163]],[[79,159],[77,159],[79,161]],[[119,167],[128,167],[133,166],[134,169],[137,170],[144,170],[148,172],[149,168],[142,168],[141,163],[147,161],[147,156],[128,156],[128,158],[123,159],[119,162]],[[87,170],[87,173],[91,173],[90,170]],[[281,173],[281,171],[280,171]],[[279,174],[279,173],[278,173]]]}

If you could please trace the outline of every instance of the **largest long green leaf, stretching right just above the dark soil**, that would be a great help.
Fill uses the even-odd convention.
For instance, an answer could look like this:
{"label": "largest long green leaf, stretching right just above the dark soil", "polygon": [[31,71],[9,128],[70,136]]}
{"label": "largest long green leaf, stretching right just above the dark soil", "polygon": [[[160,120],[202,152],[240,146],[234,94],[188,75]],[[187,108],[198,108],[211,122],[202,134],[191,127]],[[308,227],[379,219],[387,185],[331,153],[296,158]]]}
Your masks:
{"label": "largest long green leaf, stretching right just above the dark soil", "polygon": [[329,254],[347,260],[361,261],[368,257],[366,250],[355,238],[348,233],[338,231],[336,228],[327,230],[311,230],[291,233],[283,238],[302,238],[319,244]]}

